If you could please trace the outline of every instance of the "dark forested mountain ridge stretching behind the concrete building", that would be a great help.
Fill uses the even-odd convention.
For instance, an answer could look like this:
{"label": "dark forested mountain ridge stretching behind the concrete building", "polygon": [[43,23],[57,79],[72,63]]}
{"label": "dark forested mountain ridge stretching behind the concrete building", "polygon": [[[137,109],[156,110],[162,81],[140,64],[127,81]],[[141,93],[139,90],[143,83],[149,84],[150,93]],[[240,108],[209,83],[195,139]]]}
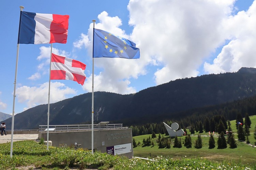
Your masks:
{"label": "dark forested mountain ridge stretching behind the concrete building", "polygon": [[[154,122],[155,117],[176,119],[178,112],[240,100],[256,95],[256,69],[201,75],[150,87],[136,94],[94,92],[94,124],[110,121],[130,125]],[[91,120],[91,93],[50,104],[50,124],[79,124]],[[164,116],[162,116],[164,115]],[[11,118],[6,123],[11,127]],[[37,129],[47,124],[47,104],[15,115],[14,129]]]}

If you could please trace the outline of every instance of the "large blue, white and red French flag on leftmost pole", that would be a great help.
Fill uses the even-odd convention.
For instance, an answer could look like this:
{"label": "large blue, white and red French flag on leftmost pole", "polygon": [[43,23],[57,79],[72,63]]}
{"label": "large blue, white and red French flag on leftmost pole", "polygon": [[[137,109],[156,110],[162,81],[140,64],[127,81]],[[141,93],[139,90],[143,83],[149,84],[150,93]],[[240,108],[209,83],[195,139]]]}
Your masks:
{"label": "large blue, white and red French flag on leftmost pole", "polygon": [[20,11],[18,44],[67,42],[69,15]]}

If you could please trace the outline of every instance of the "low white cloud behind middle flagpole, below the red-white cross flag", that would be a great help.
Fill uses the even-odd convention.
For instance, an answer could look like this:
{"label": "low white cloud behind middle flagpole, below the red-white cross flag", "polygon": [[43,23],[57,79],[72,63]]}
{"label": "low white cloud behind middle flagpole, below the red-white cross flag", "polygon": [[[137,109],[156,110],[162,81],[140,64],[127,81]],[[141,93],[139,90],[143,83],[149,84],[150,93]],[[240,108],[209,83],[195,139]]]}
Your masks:
{"label": "low white cloud behind middle flagpole, below the red-white cross flag", "polygon": [[[49,83],[39,86],[21,86],[16,89],[16,96],[19,103],[26,103],[24,110],[48,103]],[[67,95],[75,95],[76,90],[65,86],[60,82],[51,82],[50,103],[55,103],[67,98]]]}

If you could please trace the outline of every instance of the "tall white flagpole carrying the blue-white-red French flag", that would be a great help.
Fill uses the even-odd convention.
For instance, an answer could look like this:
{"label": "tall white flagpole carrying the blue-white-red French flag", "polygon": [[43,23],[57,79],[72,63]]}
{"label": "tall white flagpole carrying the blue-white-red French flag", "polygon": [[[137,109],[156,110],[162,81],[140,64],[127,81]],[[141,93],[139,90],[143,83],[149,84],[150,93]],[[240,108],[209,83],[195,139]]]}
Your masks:
{"label": "tall white flagpole carrying the blue-white-red French flag", "polygon": [[[24,9],[23,6],[19,6],[19,7],[20,7],[20,11],[22,11]],[[11,135],[11,151],[10,151],[11,158],[12,158],[12,153],[13,153],[14,108],[15,108],[15,97],[16,97],[16,80],[17,80],[17,70],[18,70],[18,58],[19,58],[19,44],[17,44],[16,69],[15,69],[14,90],[13,90],[12,135]]]}

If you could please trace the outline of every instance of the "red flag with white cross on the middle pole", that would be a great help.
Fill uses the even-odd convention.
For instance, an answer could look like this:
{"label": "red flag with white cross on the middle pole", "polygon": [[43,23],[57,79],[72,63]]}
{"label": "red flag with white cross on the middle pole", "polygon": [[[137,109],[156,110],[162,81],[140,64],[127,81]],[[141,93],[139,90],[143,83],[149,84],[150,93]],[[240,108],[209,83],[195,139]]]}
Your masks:
{"label": "red flag with white cross on the middle pole", "polygon": [[52,53],[50,80],[73,80],[84,85],[85,68],[84,63]]}

